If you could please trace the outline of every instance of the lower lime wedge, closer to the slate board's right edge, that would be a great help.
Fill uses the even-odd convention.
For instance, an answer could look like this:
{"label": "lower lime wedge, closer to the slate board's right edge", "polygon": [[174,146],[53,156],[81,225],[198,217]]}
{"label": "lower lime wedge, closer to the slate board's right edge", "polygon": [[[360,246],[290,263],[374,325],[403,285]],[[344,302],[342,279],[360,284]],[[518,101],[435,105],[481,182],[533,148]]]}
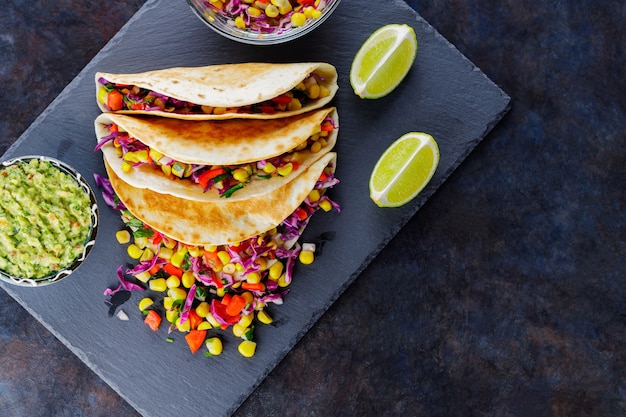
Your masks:
{"label": "lower lime wedge, closer to the slate board's right edge", "polygon": [[370,198],[380,207],[399,207],[426,187],[439,165],[439,147],[427,133],[410,132],[380,156],[370,176]]}

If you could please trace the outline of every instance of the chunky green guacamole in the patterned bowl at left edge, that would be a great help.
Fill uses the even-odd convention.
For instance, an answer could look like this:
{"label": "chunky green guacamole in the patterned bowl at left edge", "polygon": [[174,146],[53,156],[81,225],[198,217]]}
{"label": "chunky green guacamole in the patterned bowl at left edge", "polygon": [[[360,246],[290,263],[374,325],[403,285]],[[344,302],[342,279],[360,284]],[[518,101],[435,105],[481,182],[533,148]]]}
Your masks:
{"label": "chunky green guacamole in the patterned bowl at left edge", "polygon": [[43,278],[68,267],[91,229],[88,192],[49,161],[0,169],[0,270]]}

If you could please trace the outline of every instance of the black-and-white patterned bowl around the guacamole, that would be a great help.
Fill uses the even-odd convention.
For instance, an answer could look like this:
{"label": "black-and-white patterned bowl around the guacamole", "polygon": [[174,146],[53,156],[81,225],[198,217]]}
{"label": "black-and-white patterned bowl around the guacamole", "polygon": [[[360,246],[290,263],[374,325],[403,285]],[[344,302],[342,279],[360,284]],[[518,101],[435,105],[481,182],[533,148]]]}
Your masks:
{"label": "black-and-white patterned bowl around the guacamole", "polygon": [[87,236],[82,245],[82,251],[80,254],[75,257],[68,265],[65,265],[59,269],[51,271],[49,274],[38,277],[20,277],[14,276],[0,269],[0,280],[7,282],[9,284],[23,286],[23,287],[42,287],[45,285],[53,284],[55,282],[59,282],[64,278],[67,278],[72,272],[74,272],[87,258],[87,255],[91,252],[93,245],[96,241],[96,234],[98,232],[98,205],[96,203],[96,197],[93,193],[93,190],[85,180],[85,178],[74,168],[69,165],[61,162],[57,159],[50,158],[47,156],[21,156],[8,161],[4,161],[0,163],[0,175],[2,171],[5,170],[9,166],[18,165],[22,163],[28,163],[29,161],[37,159],[40,161],[47,161],[52,164],[52,166],[59,171],[69,175],[69,177],[73,178],[77,185],[82,188],[85,193],[89,196],[89,211],[90,211],[90,225],[89,231],[87,232]]}

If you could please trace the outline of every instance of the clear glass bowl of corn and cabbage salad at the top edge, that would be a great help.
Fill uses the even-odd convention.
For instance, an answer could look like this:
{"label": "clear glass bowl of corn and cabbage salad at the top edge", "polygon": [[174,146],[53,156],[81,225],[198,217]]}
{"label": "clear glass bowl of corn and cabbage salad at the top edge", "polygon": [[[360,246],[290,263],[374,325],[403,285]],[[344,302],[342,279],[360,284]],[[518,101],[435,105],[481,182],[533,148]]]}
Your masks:
{"label": "clear glass bowl of corn and cabbage salad at the top edge", "polygon": [[[278,0],[277,3],[281,1],[287,3],[291,1],[296,6],[298,5],[294,0]],[[262,14],[261,19],[249,17],[247,9],[256,3],[269,5],[272,3],[270,0],[257,0],[253,3],[246,3],[243,0],[214,0],[214,2],[211,0],[187,0],[194,13],[211,29],[228,39],[252,45],[274,45],[297,39],[320,26],[335,11],[339,2],[340,0],[320,0],[317,6],[313,6],[321,12],[319,17],[307,18],[306,23],[302,26],[294,27],[291,25],[291,18],[289,17],[291,13],[288,13],[284,15],[286,19],[282,29],[272,26],[273,29],[268,30],[260,28],[261,23],[266,20],[266,16]],[[214,4],[224,6],[220,10]],[[257,8],[257,10],[260,9]],[[235,13],[227,11],[234,11]],[[235,17],[238,15],[244,16],[244,21],[247,19],[250,22],[247,28],[240,29],[236,26]]]}

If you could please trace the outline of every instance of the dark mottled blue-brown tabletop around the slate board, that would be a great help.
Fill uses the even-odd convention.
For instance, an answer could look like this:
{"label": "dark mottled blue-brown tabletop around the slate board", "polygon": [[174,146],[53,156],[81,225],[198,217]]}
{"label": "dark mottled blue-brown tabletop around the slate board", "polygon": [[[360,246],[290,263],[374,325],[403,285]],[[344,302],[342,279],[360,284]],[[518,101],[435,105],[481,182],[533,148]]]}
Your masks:
{"label": "dark mottled blue-brown tabletop around the slate board", "polygon": [[[237,415],[626,415],[626,6],[474,3],[410,5],[511,111]],[[142,4],[4,2],[0,153]],[[136,415],[0,315],[0,416]]]}

